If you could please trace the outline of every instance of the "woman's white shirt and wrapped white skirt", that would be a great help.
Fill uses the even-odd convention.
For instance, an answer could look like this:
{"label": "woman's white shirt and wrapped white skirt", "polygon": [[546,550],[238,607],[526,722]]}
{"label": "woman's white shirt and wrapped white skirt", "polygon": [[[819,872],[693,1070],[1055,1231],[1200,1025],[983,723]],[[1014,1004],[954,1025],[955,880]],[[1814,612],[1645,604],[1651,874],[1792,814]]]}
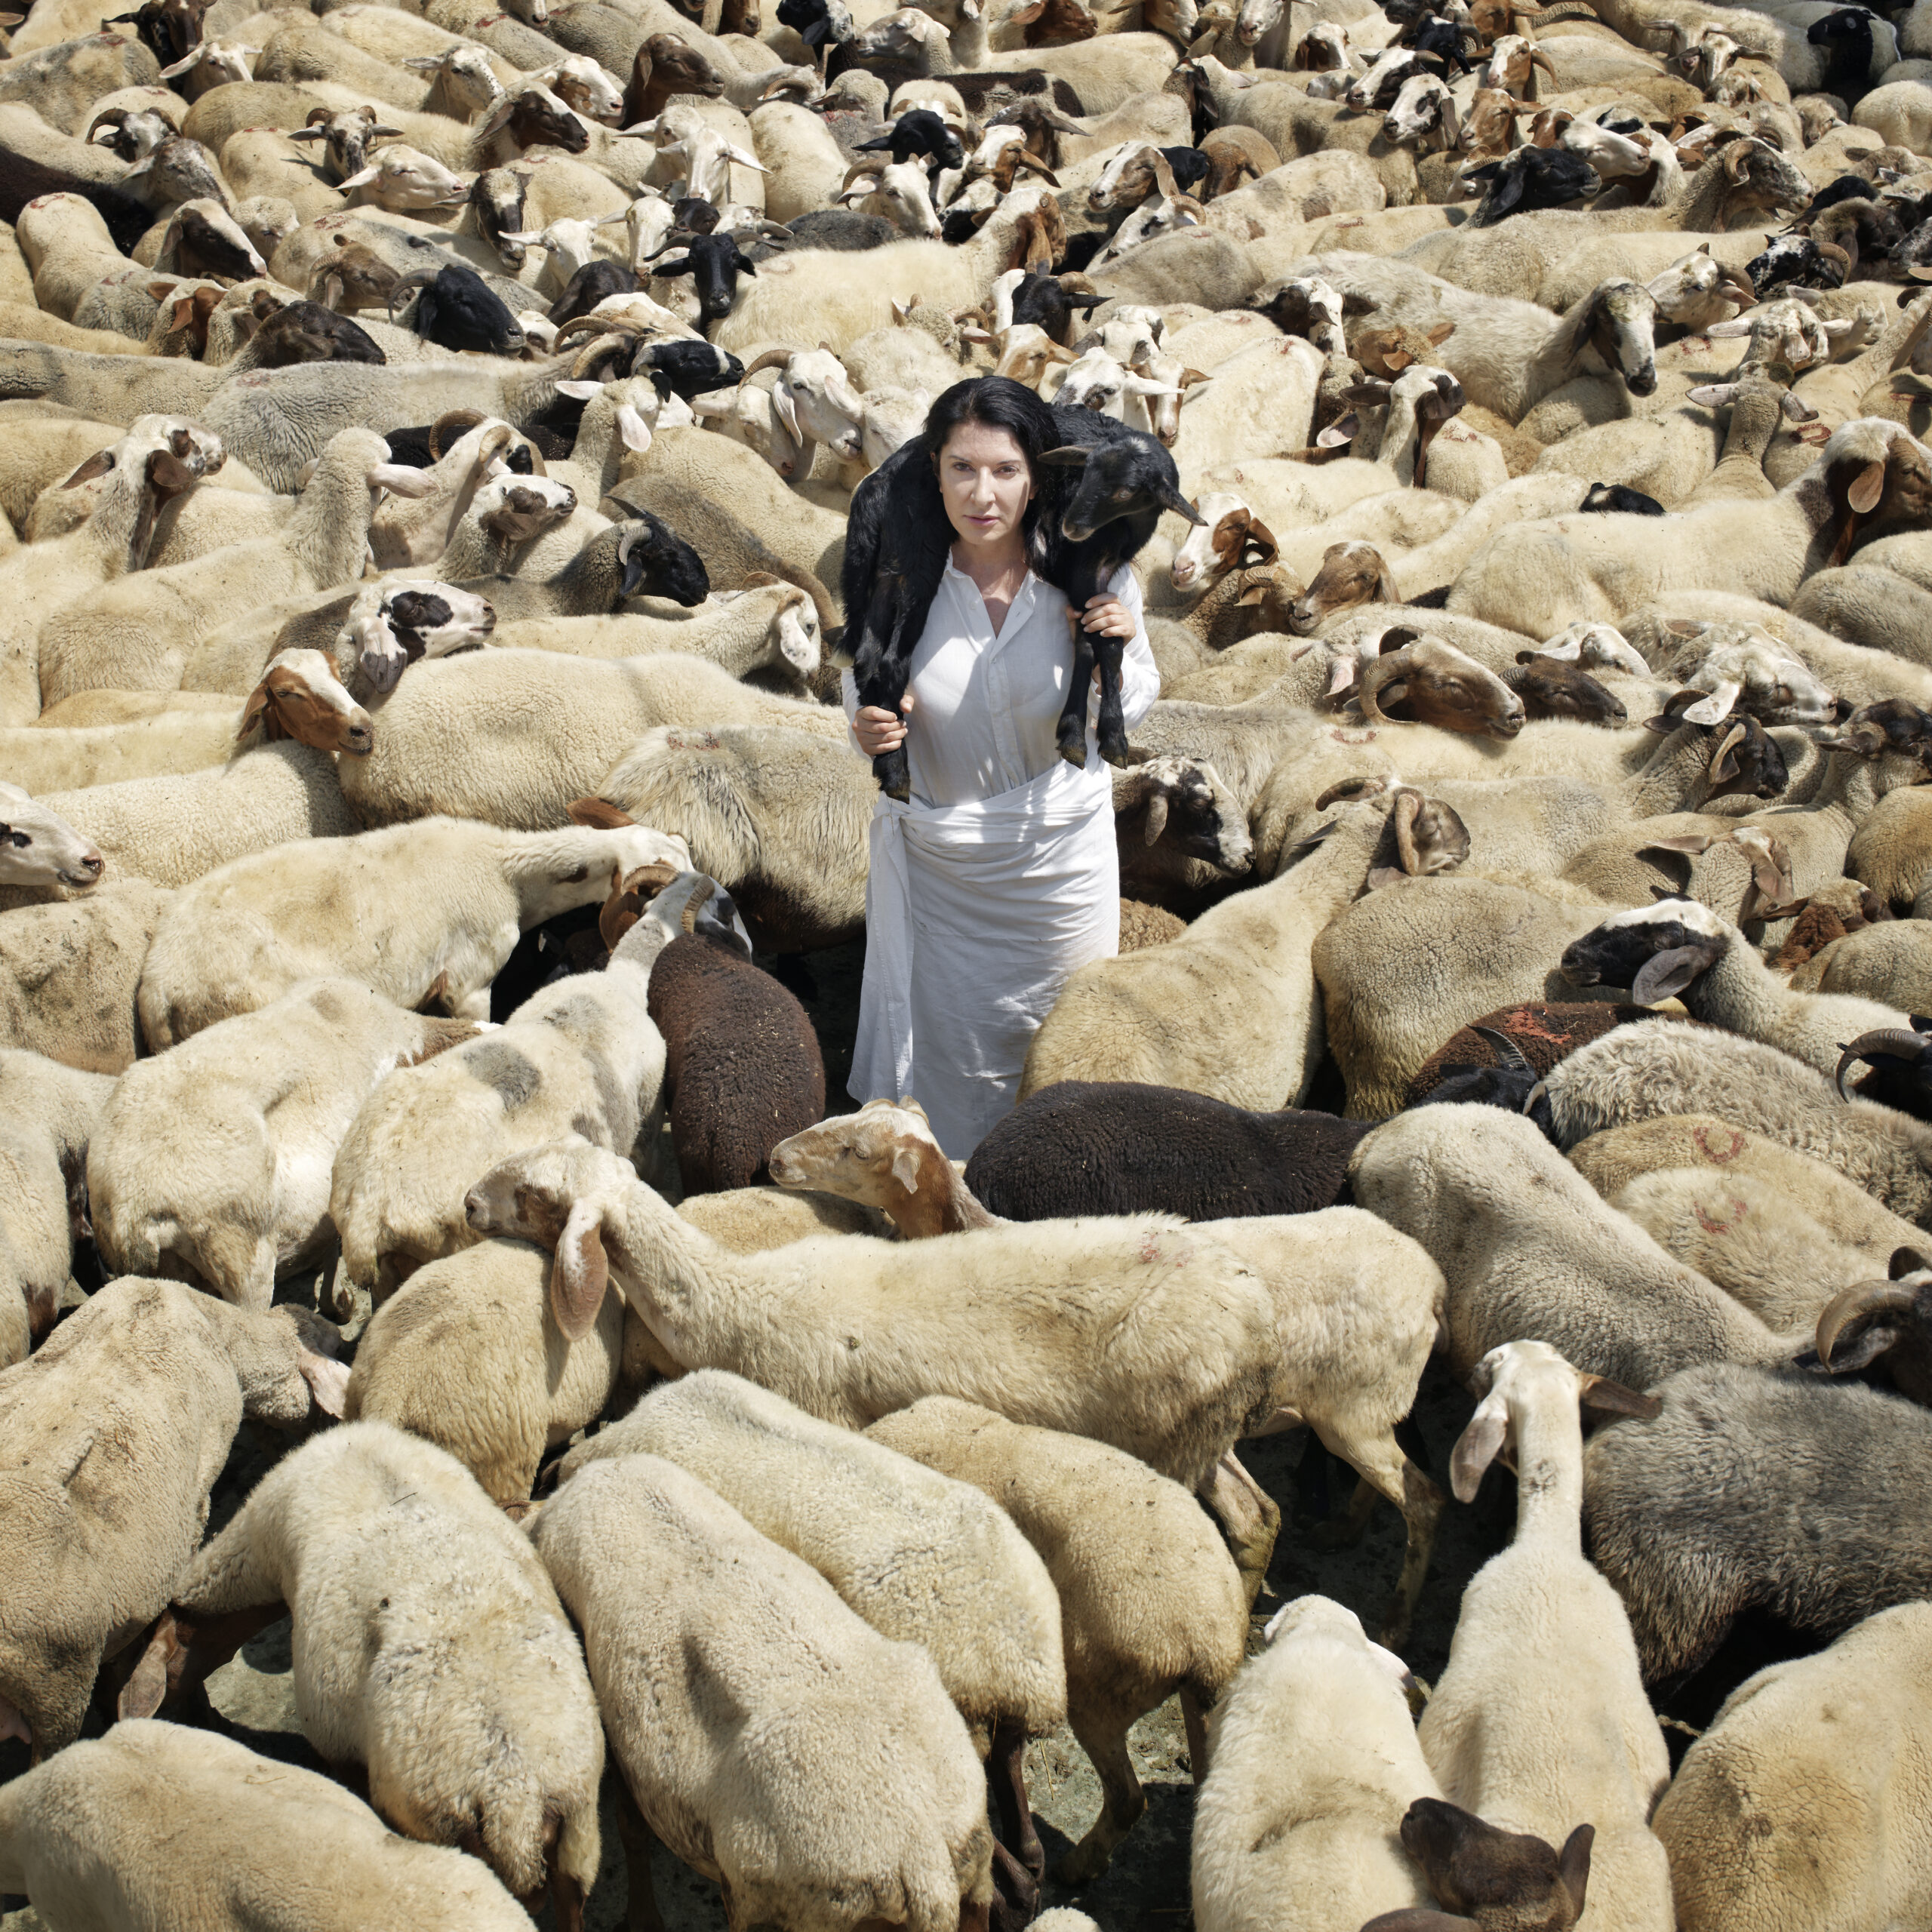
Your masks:
{"label": "woman's white shirt and wrapped white skirt", "polygon": [[[1161,680],[1132,572],[1109,589],[1136,620],[1121,667],[1132,728]],[[1097,694],[1086,765],[1066,765],[1055,740],[1070,678],[1061,591],[1028,572],[995,636],[980,587],[947,564],[912,653],[912,802],[873,808],[850,1092],[918,1099],[954,1159],[1012,1107],[1066,976],[1121,945]],[[856,715],[850,672],[844,699]]]}

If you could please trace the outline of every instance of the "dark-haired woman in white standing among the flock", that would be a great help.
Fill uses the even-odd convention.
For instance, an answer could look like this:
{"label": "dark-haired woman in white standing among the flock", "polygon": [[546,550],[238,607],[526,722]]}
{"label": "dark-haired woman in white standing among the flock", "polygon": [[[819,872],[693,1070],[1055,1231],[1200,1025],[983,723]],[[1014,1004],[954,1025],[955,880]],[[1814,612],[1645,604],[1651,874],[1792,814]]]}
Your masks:
{"label": "dark-haired woman in white standing among the flock", "polygon": [[[918,1095],[966,1159],[1012,1107],[1020,1068],[1066,976],[1121,947],[1113,784],[1094,746],[1055,746],[1072,676],[1072,614],[1037,568],[1041,456],[1059,439],[1020,383],[956,383],[925,419],[952,549],[912,655],[900,717],[846,715],[860,752],[904,744],[912,800],[879,798],[866,885],[866,981],[854,1099]],[[1080,622],[1124,639],[1128,726],[1159,696],[1140,587],[1121,570]]]}

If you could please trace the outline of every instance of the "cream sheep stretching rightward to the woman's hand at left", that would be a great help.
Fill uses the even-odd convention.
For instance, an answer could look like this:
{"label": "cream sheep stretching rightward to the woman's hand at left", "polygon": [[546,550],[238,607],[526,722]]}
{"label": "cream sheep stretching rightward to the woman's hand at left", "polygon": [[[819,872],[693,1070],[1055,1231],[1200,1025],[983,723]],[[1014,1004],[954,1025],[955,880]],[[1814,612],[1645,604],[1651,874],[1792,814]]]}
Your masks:
{"label": "cream sheep stretching rightward to the woman's hand at left", "polygon": [[663,724],[784,724],[844,744],[844,719],[827,705],[752,690],[672,651],[599,663],[491,649],[423,663],[381,719],[371,757],[342,775],[344,796],[377,825],[429,813],[524,833],[562,825],[570,802],[599,792]]}

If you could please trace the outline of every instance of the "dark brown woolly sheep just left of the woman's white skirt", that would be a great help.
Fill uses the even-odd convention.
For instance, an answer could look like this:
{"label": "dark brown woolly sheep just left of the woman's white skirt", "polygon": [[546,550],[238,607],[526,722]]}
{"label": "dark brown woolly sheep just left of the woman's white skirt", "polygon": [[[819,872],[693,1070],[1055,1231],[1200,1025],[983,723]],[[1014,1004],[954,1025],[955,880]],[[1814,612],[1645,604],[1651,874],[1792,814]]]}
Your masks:
{"label": "dark brown woolly sheep just left of the woman's white skirt", "polygon": [[825,1119],[825,1061],[806,1009],[752,960],[680,933],[651,968],[651,1018],[686,1194],[767,1180],[771,1150]]}

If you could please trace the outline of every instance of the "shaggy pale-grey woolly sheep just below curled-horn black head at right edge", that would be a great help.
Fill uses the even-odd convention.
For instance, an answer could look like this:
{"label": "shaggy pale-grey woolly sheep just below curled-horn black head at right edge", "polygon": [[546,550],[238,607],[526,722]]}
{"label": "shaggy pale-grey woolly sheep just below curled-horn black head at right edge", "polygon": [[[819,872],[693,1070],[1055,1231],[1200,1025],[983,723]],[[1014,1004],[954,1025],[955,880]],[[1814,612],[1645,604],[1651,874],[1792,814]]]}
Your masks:
{"label": "shaggy pale-grey woolly sheep just below curled-horn black head at right edge", "polygon": [[1932,1130],[1868,1099],[1847,1103],[1816,1068],[1754,1039],[1638,1020],[1553,1068],[1546,1095],[1561,1148],[1660,1115],[1735,1117],[1917,1227],[1932,1223]]}

